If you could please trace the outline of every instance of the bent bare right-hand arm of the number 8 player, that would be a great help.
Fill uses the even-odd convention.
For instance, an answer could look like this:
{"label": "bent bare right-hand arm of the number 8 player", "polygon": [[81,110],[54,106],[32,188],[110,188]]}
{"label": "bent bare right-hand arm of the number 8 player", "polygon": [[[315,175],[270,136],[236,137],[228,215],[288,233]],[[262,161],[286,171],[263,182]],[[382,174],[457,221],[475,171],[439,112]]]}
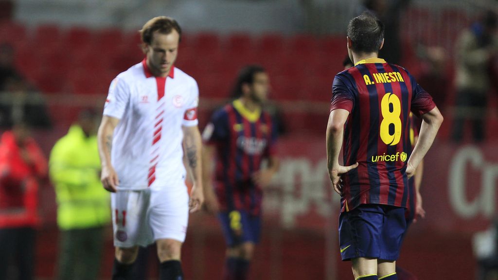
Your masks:
{"label": "bent bare right-hand arm of the number 8 player", "polygon": [[408,178],[413,176],[415,169],[419,165],[422,158],[429,150],[432,142],[436,138],[437,132],[443,123],[443,115],[439,112],[437,107],[422,115],[422,126],[420,127],[420,134],[417,143],[413,148],[410,158],[408,159],[406,174]]}

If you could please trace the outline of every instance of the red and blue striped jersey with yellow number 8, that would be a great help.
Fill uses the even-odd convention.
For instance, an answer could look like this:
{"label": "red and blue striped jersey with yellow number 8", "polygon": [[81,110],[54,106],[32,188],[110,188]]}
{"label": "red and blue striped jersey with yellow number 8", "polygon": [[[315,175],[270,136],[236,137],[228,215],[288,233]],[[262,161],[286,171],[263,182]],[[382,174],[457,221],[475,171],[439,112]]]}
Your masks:
{"label": "red and blue striped jersey with yellow number 8", "polygon": [[360,204],[406,207],[406,161],[411,154],[408,118],[434,109],[432,97],[402,67],[362,60],[336,75],[330,110],[350,112],[344,129],[342,211]]}

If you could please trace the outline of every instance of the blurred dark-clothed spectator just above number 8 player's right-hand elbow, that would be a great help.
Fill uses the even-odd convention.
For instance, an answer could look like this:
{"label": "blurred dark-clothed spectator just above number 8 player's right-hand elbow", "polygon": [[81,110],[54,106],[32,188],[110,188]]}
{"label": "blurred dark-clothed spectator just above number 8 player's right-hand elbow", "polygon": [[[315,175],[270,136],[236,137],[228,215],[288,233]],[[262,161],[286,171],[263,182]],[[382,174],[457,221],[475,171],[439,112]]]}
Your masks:
{"label": "blurred dark-clothed spectator just above number 8 player's right-hand elbow", "polygon": [[418,84],[432,96],[438,108],[443,108],[450,89],[450,79],[446,75],[446,52],[441,47],[423,48],[422,57],[426,67],[417,80]]}

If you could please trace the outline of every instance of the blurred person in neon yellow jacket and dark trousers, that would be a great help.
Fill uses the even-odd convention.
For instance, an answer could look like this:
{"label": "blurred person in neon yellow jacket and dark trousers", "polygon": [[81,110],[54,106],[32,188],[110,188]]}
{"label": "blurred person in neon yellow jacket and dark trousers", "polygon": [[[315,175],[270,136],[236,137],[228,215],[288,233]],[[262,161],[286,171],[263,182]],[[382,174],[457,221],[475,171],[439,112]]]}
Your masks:
{"label": "blurred person in neon yellow jacket and dark trousers", "polygon": [[110,195],[100,181],[96,121],[94,112],[81,112],[50,153],[61,232],[59,280],[95,280],[99,275],[111,208]]}

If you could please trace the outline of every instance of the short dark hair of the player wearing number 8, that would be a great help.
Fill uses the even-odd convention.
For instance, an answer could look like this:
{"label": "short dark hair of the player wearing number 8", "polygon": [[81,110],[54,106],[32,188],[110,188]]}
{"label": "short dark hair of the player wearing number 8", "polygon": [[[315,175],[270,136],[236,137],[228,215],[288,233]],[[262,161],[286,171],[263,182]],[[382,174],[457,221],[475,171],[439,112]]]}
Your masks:
{"label": "short dark hair of the player wearing number 8", "polygon": [[364,11],[349,22],[348,37],[354,52],[378,52],[384,39],[384,24],[373,13]]}

